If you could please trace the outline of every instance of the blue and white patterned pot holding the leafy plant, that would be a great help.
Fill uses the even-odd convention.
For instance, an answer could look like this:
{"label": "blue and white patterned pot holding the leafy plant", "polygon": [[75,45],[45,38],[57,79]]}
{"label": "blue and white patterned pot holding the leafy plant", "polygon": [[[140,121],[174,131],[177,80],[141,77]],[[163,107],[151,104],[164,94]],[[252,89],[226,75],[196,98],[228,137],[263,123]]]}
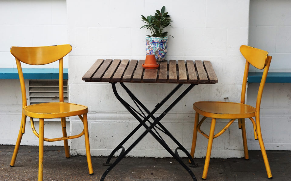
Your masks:
{"label": "blue and white patterned pot holding the leafy plant", "polygon": [[146,36],[146,54],[155,55],[157,62],[165,60],[168,48],[168,36],[148,37]]}

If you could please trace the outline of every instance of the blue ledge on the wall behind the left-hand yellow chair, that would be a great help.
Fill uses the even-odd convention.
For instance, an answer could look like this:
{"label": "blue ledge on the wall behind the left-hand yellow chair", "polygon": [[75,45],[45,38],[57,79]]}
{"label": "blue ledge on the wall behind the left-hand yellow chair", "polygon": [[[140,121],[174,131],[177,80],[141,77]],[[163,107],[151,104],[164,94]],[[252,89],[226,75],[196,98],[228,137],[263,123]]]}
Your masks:
{"label": "blue ledge on the wall behind the left-hand yellow chair", "polygon": [[[24,79],[59,79],[58,68],[22,68]],[[19,79],[17,68],[0,68],[0,79]],[[64,68],[68,80],[68,68]]]}

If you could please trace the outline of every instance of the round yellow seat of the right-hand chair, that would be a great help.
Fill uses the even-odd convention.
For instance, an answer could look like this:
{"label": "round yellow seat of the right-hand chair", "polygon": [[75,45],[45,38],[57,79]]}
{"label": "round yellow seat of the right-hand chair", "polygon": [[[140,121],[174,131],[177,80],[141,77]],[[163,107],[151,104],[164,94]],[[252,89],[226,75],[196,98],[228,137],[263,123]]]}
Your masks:
{"label": "round yellow seat of the right-hand chair", "polygon": [[255,108],[243,103],[201,101],[194,103],[193,109],[211,118],[240,119],[255,116]]}

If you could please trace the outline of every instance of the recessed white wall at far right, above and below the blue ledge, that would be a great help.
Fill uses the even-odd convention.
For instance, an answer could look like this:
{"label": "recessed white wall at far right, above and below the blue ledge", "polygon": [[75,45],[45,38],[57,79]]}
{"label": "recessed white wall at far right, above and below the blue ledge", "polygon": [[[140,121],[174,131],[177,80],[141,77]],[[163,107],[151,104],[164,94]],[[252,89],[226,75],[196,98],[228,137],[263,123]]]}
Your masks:
{"label": "recessed white wall at far right, above and below the blue ledge", "polygon": [[[251,0],[249,45],[272,56],[269,72],[291,72],[291,1]],[[254,67],[250,71],[260,71]],[[255,106],[259,84],[249,84],[248,104]],[[267,83],[261,103],[261,125],[268,150],[290,150],[291,84]],[[249,149],[259,149],[248,122]],[[279,132],[278,132],[279,131]],[[279,134],[278,134],[279,133]]]}

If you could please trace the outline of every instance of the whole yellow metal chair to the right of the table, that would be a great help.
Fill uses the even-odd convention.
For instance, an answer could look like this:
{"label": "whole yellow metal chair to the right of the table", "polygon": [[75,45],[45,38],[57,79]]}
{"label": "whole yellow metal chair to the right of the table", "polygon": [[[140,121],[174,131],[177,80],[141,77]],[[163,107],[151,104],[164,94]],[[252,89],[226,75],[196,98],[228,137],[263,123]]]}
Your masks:
{"label": "whole yellow metal chair to the right of the table", "polygon": [[[240,52],[246,58],[246,66],[243,75],[243,87],[241,93],[241,100],[240,103],[232,103],[232,102],[210,102],[210,101],[203,101],[203,102],[196,102],[193,104],[193,109],[196,111],[195,115],[195,123],[194,123],[194,131],[193,131],[193,140],[192,140],[192,148],[191,148],[191,156],[194,157],[195,153],[195,146],[196,146],[196,139],[197,139],[197,131],[199,131],[203,136],[208,138],[208,145],[207,145],[207,152],[206,152],[206,159],[204,170],[202,174],[202,179],[206,180],[207,171],[209,167],[209,160],[212,148],[212,141],[214,138],[221,135],[223,132],[226,131],[227,128],[233,123],[234,120],[238,119],[239,121],[239,129],[242,129],[243,135],[243,148],[245,159],[249,159],[248,153],[248,146],[247,146],[247,139],[246,139],[246,129],[245,129],[245,119],[248,118],[253,123],[255,139],[259,138],[259,144],[261,147],[263,160],[265,162],[266,171],[269,179],[272,179],[272,173],[269,166],[269,161],[267,158],[265,146],[263,143],[261,127],[260,127],[260,104],[263,94],[263,88],[266,82],[266,77],[269,71],[269,66],[271,63],[271,56],[268,56],[268,52],[260,49],[256,49],[250,46],[242,45],[240,47]],[[246,84],[249,72],[249,64],[252,64],[254,67],[259,69],[264,69],[262,80],[259,86],[259,91],[256,100],[256,107],[249,106],[245,104],[245,94],[246,94]],[[199,114],[204,116],[201,121],[199,122]],[[210,132],[209,135],[206,135],[201,129],[200,126],[203,121],[207,118],[212,118]],[[256,118],[256,121],[253,119]],[[229,123],[217,134],[214,134],[215,123],[216,119],[231,119]]]}

